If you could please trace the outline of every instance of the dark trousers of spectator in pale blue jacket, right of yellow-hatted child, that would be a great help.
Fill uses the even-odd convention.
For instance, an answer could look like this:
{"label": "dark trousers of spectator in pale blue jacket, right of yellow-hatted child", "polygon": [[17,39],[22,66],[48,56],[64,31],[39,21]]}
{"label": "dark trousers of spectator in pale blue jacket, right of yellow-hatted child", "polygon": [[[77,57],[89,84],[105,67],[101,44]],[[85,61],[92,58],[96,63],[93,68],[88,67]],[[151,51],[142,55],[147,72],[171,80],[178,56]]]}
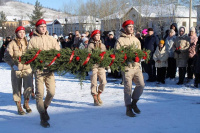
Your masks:
{"label": "dark trousers of spectator in pale blue jacket, right of yellow-hatted child", "polygon": [[168,58],[167,77],[173,79],[176,76],[176,59]]}

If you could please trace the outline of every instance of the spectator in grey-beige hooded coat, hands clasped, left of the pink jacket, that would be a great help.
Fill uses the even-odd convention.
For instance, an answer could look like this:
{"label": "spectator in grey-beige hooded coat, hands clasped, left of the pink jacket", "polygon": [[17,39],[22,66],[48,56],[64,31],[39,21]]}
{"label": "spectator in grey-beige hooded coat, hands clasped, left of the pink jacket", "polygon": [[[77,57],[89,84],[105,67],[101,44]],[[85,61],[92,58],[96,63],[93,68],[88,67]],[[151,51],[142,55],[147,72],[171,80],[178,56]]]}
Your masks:
{"label": "spectator in grey-beige hooded coat, hands clasped, left of the pink jacket", "polygon": [[176,66],[179,68],[179,81],[177,85],[182,85],[185,79],[189,47],[190,38],[185,34],[185,27],[180,27],[179,36],[176,38],[173,46]]}

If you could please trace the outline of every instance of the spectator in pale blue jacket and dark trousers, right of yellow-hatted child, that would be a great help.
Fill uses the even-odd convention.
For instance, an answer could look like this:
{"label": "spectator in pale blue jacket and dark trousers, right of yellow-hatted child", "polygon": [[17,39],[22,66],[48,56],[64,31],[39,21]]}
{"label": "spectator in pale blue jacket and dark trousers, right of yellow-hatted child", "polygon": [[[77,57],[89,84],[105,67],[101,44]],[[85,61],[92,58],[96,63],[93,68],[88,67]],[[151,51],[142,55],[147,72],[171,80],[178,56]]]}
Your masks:
{"label": "spectator in pale blue jacket and dark trousers, right of yellow-hatted child", "polygon": [[167,78],[174,79],[176,76],[176,59],[174,59],[174,41],[176,40],[175,31],[169,30],[169,35],[165,40],[166,51],[169,54],[168,67],[167,67]]}

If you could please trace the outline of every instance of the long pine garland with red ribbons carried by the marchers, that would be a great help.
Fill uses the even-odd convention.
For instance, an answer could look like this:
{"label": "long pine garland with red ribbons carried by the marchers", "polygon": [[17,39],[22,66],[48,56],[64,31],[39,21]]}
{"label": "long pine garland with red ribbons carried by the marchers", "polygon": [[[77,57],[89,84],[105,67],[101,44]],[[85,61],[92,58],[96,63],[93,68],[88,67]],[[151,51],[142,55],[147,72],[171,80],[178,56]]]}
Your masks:
{"label": "long pine garland with red ribbons carried by the marchers", "polygon": [[[108,50],[101,52],[99,49],[88,52],[87,49],[69,48],[57,50],[41,51],[39,49],[28,50],[20,59],[21,63],[30,64],[35,69],[48,69],[57,72],[59,75],[72,73],[80,80],[83,80],[86,73],[91,71],[94,64],[112,71],[123,71],[129,62],[149,60],[149,50],[134,49],[131,47],[119,50]],[[19,60],[18,60],[19,61]]]}

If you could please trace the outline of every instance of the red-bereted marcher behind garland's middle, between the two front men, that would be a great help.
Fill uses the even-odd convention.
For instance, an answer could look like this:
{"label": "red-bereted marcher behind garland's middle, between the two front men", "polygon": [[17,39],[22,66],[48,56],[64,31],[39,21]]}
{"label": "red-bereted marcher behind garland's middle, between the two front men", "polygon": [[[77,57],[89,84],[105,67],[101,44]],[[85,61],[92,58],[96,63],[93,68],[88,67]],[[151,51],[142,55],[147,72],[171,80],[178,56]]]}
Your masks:
{"label": "red-bereted marcher behind garland's middle, between the two front men", "polygon": [[[94,30],[91,34],[91,41],[88,45],[88,51],[92,52],[93,50],[100,49],[101,52],[106,51],[106,46],[101,42],[101,33],[99,30]],[[105,68],[99,67],[97,64],[94,64],[92,71],[90,72],[91,80],[91,94],[94,99],[94,106],[101,106],[103,104],[100,95],[104,91],[106,81]],[[97,77],[99,79],[99,86],[97,89]]]}

